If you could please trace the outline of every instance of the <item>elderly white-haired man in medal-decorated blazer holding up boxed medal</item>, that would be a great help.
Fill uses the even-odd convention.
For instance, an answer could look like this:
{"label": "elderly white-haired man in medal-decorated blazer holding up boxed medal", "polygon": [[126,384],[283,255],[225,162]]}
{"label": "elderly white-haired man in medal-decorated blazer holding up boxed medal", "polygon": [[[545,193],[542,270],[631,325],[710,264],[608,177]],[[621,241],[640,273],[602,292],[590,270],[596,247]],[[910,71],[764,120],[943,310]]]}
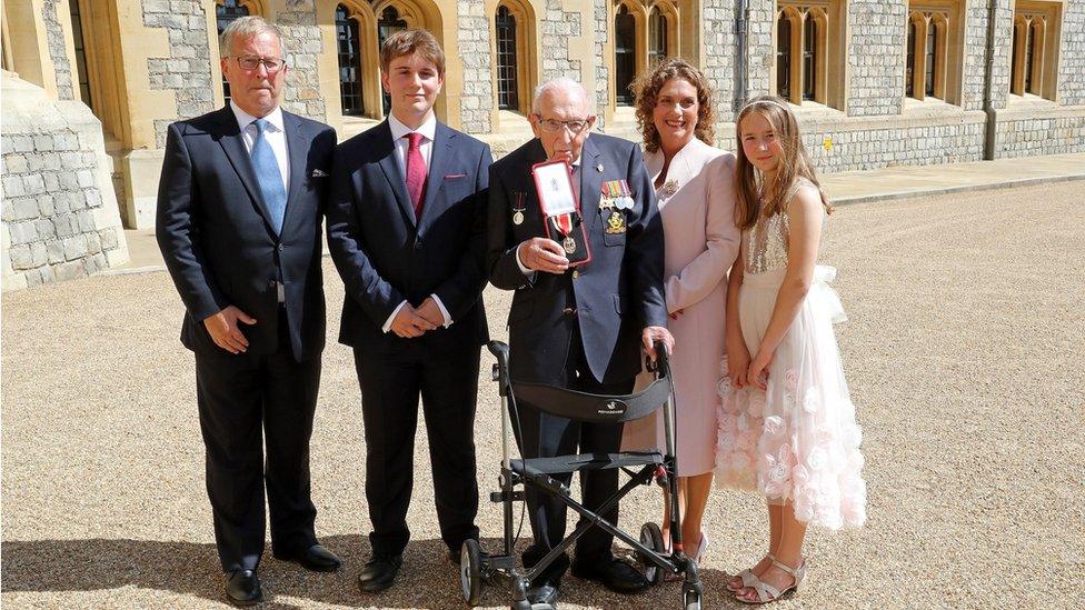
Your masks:
{"label": "elderly white-haired man in medal-decorated blazer holding up boxed medal", "polygon": [[[624,394],[640,371],[641,348],[674,344],[664,298],[664,236],[651,182],[637,144],[593,134],[591,99],[561,78],[536,91],[530,116],[536,139],[490,168],[487,264],[497,288],[515,290],[509,311],[510,374],[590,393]],[[574,191],[591,261],[570,268],[565,250],[545,238],[531,167],[564,159],[574,170]],[[620,194],[620,207],[600,204]],[[628,203],[628,204],[627,204]],[[617,214],[617,216],[616,216]],[[518,401],[520,452],[526,458],[614,452],[621,424],[589,424]],[[566,481],[568,482],[568,480]],[[616,470],[581,472],[584,502],[603,504],[617,491]],[[535,543],[524,553],[531,566],[558,544],[566,530],[565,504],[528,490]],[[617,522],[615,507],[606,514]],[[617,560],[614,537],[593,528],[577,542],[573,574],[618,592],[647,587],[631,566]],[[532,603],[553,603],[567,558],[551,564],[528,591]]]}

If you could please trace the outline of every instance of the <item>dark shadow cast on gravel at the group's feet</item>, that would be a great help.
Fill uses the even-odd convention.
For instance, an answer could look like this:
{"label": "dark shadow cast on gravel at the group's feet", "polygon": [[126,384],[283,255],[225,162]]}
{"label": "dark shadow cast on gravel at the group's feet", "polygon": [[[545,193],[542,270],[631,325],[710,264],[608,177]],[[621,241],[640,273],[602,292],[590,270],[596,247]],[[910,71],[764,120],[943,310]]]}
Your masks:
{"label": "dark shadow cast on gravel at the group's feet", "polygon": [[[456,566],[449,562],[440,540],[411,541],[405,553],[404,571],[396,584],[370,596],[358,590],[357,578],[369,554],[364,536],[335,536],[322,540],[344,560],[345,568],[334,574],[310,573],[265,552],[260,566],[263,582],[263,608],[298,608],[288,599],[309,600],[334,606],[379,606],[437,610],[464,608]],[[497,539],[484,540],[484,548],[500,548]],[[17,592],[61,592],[108,590],[136,587],[171,591],[223,601],[225,578],[218,569],[213,544],[160,540],[14,540],[3,541],[2,589]],[[422,579],[411,573],[411,564],[439,562],[447,566],[447,579]],[[67,569],[58,570],[58,566]],[[419,570],[432,573],[432,570]],[[723,591],[725,574],[705,570],[706,591]],[[594,582],[567,576],[561,591],[565,604],[595,608],[629,607],[635,598],[615,596]],[[678,584],[661,584],[636,601],[638,607],[679,608]],[[713,596],[715,597],[715,596]],[[717,602],[719,600],[716,600]],[[485,606],[508,607],[505,581],[485,590]],[[717,607],[715,603],[713,607]]]}

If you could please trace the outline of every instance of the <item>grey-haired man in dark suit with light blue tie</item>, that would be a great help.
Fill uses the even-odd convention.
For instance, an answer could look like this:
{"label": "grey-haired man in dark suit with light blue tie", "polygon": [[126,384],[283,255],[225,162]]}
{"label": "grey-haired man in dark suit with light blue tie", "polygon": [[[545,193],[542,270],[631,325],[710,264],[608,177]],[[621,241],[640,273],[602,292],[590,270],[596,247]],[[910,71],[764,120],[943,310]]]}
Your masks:
{"label": "grey-haired man in dark suit with light blue tie", "polygon": [[[279,30],[259,17],[222,33],[225,108],[169,127],[158,243],[196,354],[207,491],[226,592],[261,599],[267,492],[275,556],[334,571],[317,543],[309,438],[325,301],[320,221],[336,133],[282,111]],[[267,451],[265,453],[265,449]]]}

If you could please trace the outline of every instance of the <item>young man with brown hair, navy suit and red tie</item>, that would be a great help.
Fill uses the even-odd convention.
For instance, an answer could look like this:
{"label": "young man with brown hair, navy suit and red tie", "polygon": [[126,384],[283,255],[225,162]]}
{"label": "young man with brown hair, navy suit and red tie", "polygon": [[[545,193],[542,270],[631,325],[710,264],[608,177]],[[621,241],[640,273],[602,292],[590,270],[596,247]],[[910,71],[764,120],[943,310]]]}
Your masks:
{"label": "young man with brown hair, navy suit and red tie", "polygon": [[419,397],[452,561],[478,538],[474,426],[490,166],[489,147],[434,116],[445,56],[432,34],[390,36],[380,63],[391,113],[336,151],[328,209],[328,247],[347,293],[339,340],[354,348],[361,386],[372,556],[358,581],[370,593],[391,587],[410,537]]}

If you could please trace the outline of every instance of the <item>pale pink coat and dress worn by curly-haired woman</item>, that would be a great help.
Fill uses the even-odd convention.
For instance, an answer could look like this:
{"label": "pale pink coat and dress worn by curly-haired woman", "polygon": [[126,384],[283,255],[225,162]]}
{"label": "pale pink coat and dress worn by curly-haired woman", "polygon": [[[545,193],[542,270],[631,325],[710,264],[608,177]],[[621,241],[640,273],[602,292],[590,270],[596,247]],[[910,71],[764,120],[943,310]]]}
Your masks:
{"label": "pale pink coat and dress worn by curly-haired woman", "polygon": [[[646,153],[655,181],[663,152]],[[694,139],[670,161],[656,190],[667,240],[667,311],[683,310],[668,328],[675,336],[678,473],[691,477],[715,467],[716,386],[724,356],[727,270],[738,257],[735,227],[735,156]],[[629,422],[623,449],[664,447],[663,411]]]}

